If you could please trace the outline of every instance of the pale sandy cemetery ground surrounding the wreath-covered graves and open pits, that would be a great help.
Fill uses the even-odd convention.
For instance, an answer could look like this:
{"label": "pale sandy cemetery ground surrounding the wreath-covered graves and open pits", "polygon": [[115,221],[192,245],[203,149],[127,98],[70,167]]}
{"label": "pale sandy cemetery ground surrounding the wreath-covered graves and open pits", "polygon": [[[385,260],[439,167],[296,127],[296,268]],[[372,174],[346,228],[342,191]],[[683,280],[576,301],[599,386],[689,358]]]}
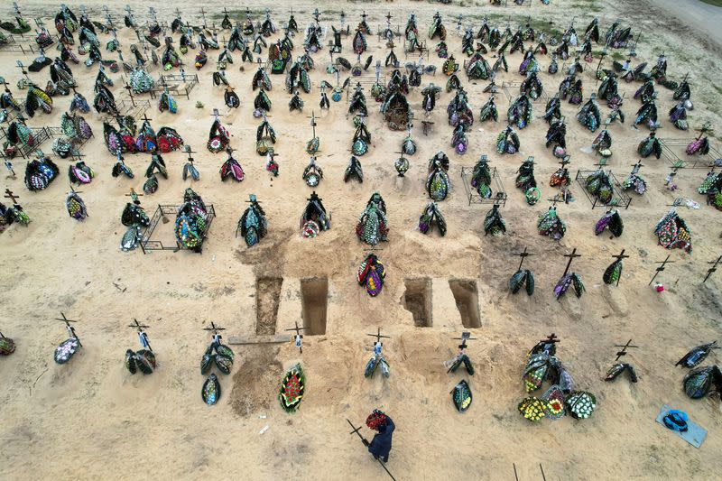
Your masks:
{"label": "pale sandy cemetery ground surrounding the wreath-covered graves and open pits", "polygon": [[[612,9],[612,4],[620,10]],[[99,13],[99,2],[85,5],[91,16]],[[147,4],[132,5],[141,12],[142,5]],[[175,5],[189,16],[199,6],[196,2]],[[270,4],[256,4],[255,12],[265,5]],[[312,5],[317,4],[294,2],[301,26],[309,22]],[[161,17],[165,6],[157,7]],[[459,53],[460,40],[452,31],[453,18],[459,12],[467,15],[465,23],[476,28],[484,14],[503,14],[510,16],[513,25],[532,15],[534,20],[553,21],[554,27],[563,30],[567,20],[561,19],[571,12],[577,14],[578,30],[586,26],[592,12],[600,18],[603,28],[617,17],[640,26],[644,32],[669,25],[670,32],[643,35],[639,60],[653,62],[656,53],[663,50],[670,60],[671,77],[692,72],[696,108],[690,113],[690,125],[697,127],[704,120],[719,125],[715,114],[719,111],[718,87],[710,83],[720,74],[722,64],[717,53],[705,51],[704,43],[686,31],[674,30],[676,23],[671,19],[641,16],[643,6],[636,2],[618,5],[552,0],[552,5],[544,7],[533,1],[531,8],[484,6],[473,13],[458,5],[336,3],[329,7],[334,13],[326,14],[324,22],[338,23],[338,11],[343,8],[348,22],[355,25],[365,9],[377,28],[389,6],[393,6],[394,23],[400,23],[402,28],[406,13],[414,10],[420,19],[420,32],[426,31],[431,14],[440,9],[449,29],[449,48],[457,52],[458,60],[464,56]],[[50,16],[56,9],[57,5],[49,8],[44,2],[23,3],[27,14],[42,12]],[[115,12],[119,22],[119,11]],[[144,17],[140,13],[138,16]],[[287,16],[284,9],[277,11],[273,19],[281,23]],[[217,23],[220,18],[215,17]],[[120,37],[127,52],[134,33],[124,29]],[[106,40],[104,36],[102,39]],[[369,53],[383,60],[387,52],[383,42],[376,37],[368,41]],[[296,37],[295,42],[294,53],[298,54],[301,38]],[[353,60],[350,42],[350,38],[344,40],[343,56]],[[403,55],[401,48],[396,52]],[[189,51],[184,60],[190,64],[194,54]],[[111,57],[105,51],[104,56]],[[112,178],[113,158],[103,144],[102,117],[94,112],[86,118],[97,136],[82,149],[88,164],[97,171],[97,179],[82,189],[90,214],[85,222],[69,219],[64,211],[67,161],[56,159],[61,177],[48,190],[29,192],[23,186],[22,175],[3,184],[21,196],[32,217],[29,227],[12,226],[0,235],[0,328],[18,346],[13,356],[0,362],[4,386],[0,397],[3,477],[380,479],[385,476],[381,467],[358,439],[349,436],[346,421],[348,418],[361,424],[374,408],[388,412],[397,425],[388,464],[397,479],[514,479],[514,466],[519,479],[539,479],[540,463],[547,479],[718,476],[722,469],[718,456],[722,449],[719,401],[688,399],[680,389],[684,374],[674,367],[689,347],[719,336],[722,278],[713,276],[706,284],[701,283],[705,263],[721,254],[722,230],[719,212],[705,206],[703,196],[697,193],[705,170],[680,171],[676,180],[680,190],[672,194],[663,187],[669,164],[663,158],[645,160],[642,173],[649,190],[642,198],[634,196],[632,206],[622,212],[625,233],[615,239],[594,236],[594,223],[603,211],[592,210],[575,184],[571,190],[576,200],[559,207],[560,216],[568,224],[567,236],[555,243],[536,233],[536,219],[548,202],[542,200],[529,207],[522,193],[514,189],[514,172],[527,155],[534,155],[542,199],[556,193],[548,186],[558,165],[543,145],[547,128],[541,119],[543,105],[536,106],[537,118],[520,133],[522,153],[497,155],[494,141],[502,124],[477,122],[469,134],[469,153],[458,156],[449,146],[451,129],[445,117],[452,96],[443,93],[432,114],[435,125],[430,135],[422,135],[421,128],[414,129],[419,152],[412,157],[412,168],[403,180],[397,179],[393,160],[404,133],[389,131],[375,112],[367,122],[373,146],[361,158],[366,180],[363,184],[345,184],[342,177],[350,155],[347,149],[353,126],[343,101],[332,104],[330,111],[319,117],[319,165],[325,178],[318,191],[333,213],[332,228],[314,240],[304,240],[299,235],[298,218],[310,194],[301,180],[308,162],[305,143],[310,139],[306,117],[318,106],[319,81],[332,81],[324,70],[327,52],[315,55],[317,69],[310,74],[314,88],[303,96],[303,114],[288,113],[290,96],[282,89],[282,78],[272,79],[270,120],[280,134],[276,150],[281,176],[277,179],[264,171],[264,158],[255,154],[258,121],[252,116],[250,92],[255,68],[246,65],[245,71],[239,71],[240,55],[234,54],[236,63],[229,66],[228,76],[236,91],[243,94],[243,105],[228,112],[221,108],[222,90],[215,88],[210,79],[218,51],[210,51],[208,56],[208,65],[199,71],[200,86],[190,100],[177,98],[177,115],[161,114],[154,106],[148,111],[156,129],[161,125],[175,127],[198,151],[195,158],[201,177],[192,188],[218,213],[203,254],[120,252],[120,236],[125,232],[119,219],[127,199],[124,194],[130,188],[140,190],[149,157],[126,156],[137,174],[134,180]],[[14,68],[14,60],[19,58],[28,64],[33,56],[18,57],[0,51],[2,73],[13,86],[20,78]],[[499,85],[502,80],[521,80],[517,71],[522,56],[514,53],[507,59],[510,72],[499,75]],[[540,60],[546,72],[549,59]],[[442,63],[433,52],[429,61],[439,67]],[[80,91],[91,100],[97,67],[71,68],[79,79]],[[151,72],[154,77],[160,74],[158,68]],[[385,75],[389,73],[384,70]],[[44,85],[48,70],[31,75]],[[113,79],[116,96],[123,97],[120,76],[113,75]],[[470,83],[464,75],[461,79],[477,116],[486,101],[486,94],[481,93],[486,81]],[[550,93],[562,76],[543,73],[542,79],[545,92]],[[422,84],[429,81],[443,85],[446,79],[438,73],[425,77]],[[596,87],[586,75],[584,84],[586,97]],[[628,117],[633,117],[638,108],[638,102],[631,98],[637,87],[620,83],[627,97]],[[17,88],[13,90],[15,95],[23,95]],[[664,88],[658,91],[659,110],[666,113],[674,103],[671,92]],[[196,101],[204,107],[196,108]],[[415,109],[420,107],[418,88],[412,91],[410,101]],[[508,101],[502,94],[497,96],[497,102],[500,116],[504,117]],[[68,104],[69,97],[56,97],[52,114],[38,114],[29,124],[59,125]],[[222,120],[233,134],[231,144],[246,174],[241,184],[221,183],[218,169],[225,156],[208,153],[204,148],[214,106],[221,109]],[[376,106],[369,98],[369,107],[374,110]],[[593,169],[596,158],[588,153],[588,145],[594,134],[583,130],[574,119],[576,106],[565,103],[562,109],[569,123],[570,170],[576,173],[578,169]],[[602,111],[606,116],[606,106]],[[661,118],[662,136],[691,138],[691,133],[676,131],[666,116]],[[610,131],[614,139],[610,166],[621,180],[631,170],[630,164],[636,162],[636,145],[647,132],[632,129],[629,120],[625,125],[612,125]],[[717,141],[713,145],[718,147]],[[42,147],[50,152],[50,143]],[[423,189],[426,163],[440,149],[451,158],[452,181],[449,199],[440,204],[449,223],[449,233],[443,238],[436,234],[422,236],[416,229],[428,201]],[[509,194],[503,208],[508,233],[501,238],[483,236],[487,207],[469,207],[464,195],[461,167],[472,167],[481,153],[489,155]],[[185,156],[173,153],[164,158],[171,178],[161,179],[160,189],[143,198],[149,212],[158,203],[179,203],[183,190],[190,186],[180,177]],[[23,161],[14,163],[22,172]],[[376,190],[384,196],[392,230],[389,242],[378,253],[386,265],[386,285],[378,298],[371,299],[355,282],[356,267],[366,247],[356,240],[354,226]],[[261,245],[247,249],[234,233],[250,193],[264,202],[270,227]],[[680,215],[691,227],[692,254],[667,252],[653,236],[654,224],[674,197],[701,204],[698,210],[680,208]],[[170,227],[159,227],[160,235],[171,236]],[[508,277],[518,263],[513,254],[524,246],[536,254],[527,260],[537,279],[537,292],[532,298],[511,296],[506,289]],[[573,268],[584,277],[588,291],[580,300],[567,297],[558,302],[552,289],[564,270],[562,254],[574,247],[583,256]],[[608,288],[601,282],[602,272],[611,262],[610,256],[621,249],[631,257],[625,261],[620,286]],[[647,287],[647,282],[653,275],[654,263],[667,254],[675,264],[662,273],[660,278],[667,291],[658,295]],[[267,277],[281,278],[280,290],[279,282],[258,281]],[[201,328],[214,321],[227,328],[227,337],[253,338],[256,332],[273,329],[282,333],[294,322],[301,322],[301,282],[313,277],[328,279],[325,334],[304,338],[302,355],[291,343],[236,347],[233,373],[221,379],[221,401],[213,408],[204,405],[199,396],[204,377],[198,366],[209,336]],[[404,308],[404,283],[418,279],[428,279],[427,328],[415,327],[412,313]],[[450,280],[459,279],[476,282],[478,301],[471,302],[471,307],[480,311],[481,328],[467,329],[462,324],[449,286]],[[260,289],[256,289],[257,282]],[[275,322],[261,322],[260,327],[259,296],[262,312],[267,312],[268,302],[273,305],[276,296],[278,299]],[[318,302],[313,307],[322,309]],[[56,365],[51,358],[54,347],[65,338],[61,323],[53,320],[60,310],[72,319],[81,319],[77,329],[84,347],[68,365]],[[123,367],[125,349],[137,343],[133,330],[125,327],[133,318],[151,325],[148,334],[159,359],[158,370],[151,376],[131,376]],[[368,380],[362,375],[370,356],[371,338],[366,333],[377,327],[391,336],[384,344],[384,352],[392,376],[385,381],[376,377]],[[454,356],[458,341],[452,338],[462,330],[471,330],[477,338],[468,349],[477,365],[477,374],[469,379],[474,403],[463,415],[454,410],[449,391],[467,376],[447,375],[442,365]],[[551,332],[562,339],[559,356],[569,366],[579,389],[597,395],[597,412],[587,421],[569,418],[532,425],[516,412],[517,403],[525,395],[521,381],[525,353]],[[614,360],[614,345],[624,344],[629,338],[640,346],[629,356],[640,382],[618,380],[606,384],[602,378]],[[718,356],[710,356],[709,363],[716,362]],[[307,395],[300,411],[289,415],[282,411],[275,395],[283,370],[299,361],[307,375]],[[653,421],[663,403],[689,412],[694,421],[709,430],[702,449],[690,447]],[[260,434],[266,425],[268,430]],[[364,432],[371,435],[366,428]]]}

